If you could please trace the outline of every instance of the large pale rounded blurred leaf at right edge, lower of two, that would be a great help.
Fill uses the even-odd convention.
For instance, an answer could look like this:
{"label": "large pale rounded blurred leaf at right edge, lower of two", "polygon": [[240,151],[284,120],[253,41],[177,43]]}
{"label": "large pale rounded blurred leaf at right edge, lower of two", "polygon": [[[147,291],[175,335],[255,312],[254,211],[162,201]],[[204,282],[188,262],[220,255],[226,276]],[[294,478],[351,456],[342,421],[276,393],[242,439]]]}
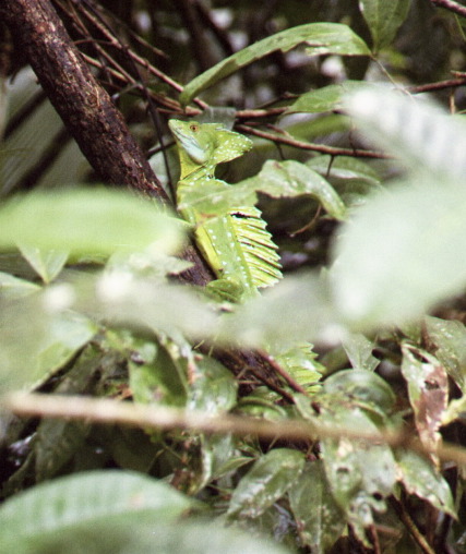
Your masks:
{"label": "large pale rounded blurred leaf at right edge, lower of two", "polygon": [[331,269],[342,315],[363,328],[421,316],[466,285],[466,186],[411,181],[368,200]]}

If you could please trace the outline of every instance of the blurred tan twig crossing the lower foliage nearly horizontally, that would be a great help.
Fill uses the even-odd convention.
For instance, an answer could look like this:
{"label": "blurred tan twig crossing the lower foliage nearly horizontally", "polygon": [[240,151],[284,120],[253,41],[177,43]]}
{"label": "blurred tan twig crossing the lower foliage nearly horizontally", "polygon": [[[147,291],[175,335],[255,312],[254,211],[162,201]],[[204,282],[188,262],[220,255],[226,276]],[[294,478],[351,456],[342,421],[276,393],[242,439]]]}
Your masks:
{"label": "blurred tan twig crossing the lower foliage nearly horizontally", "polygon": [[286,437],[298,441],[345,437],[368,443],[385,443],[392,447],[407,448],[423,456],[434,451],[441,460],[466,466],[466,448],[444,444],[435,449],[430,449],[404,430],[379,430],[373,433],[344,426],[331,426],[321,423],[318,419],[314,421],[289,419],[271,422],[228,413],[212,417],[199,411],[120,402],[108,398],[39,393],[12,393],[0,399],[0,406],[3,410],[20,417],[85,420],[93,423],[111,423],[141,429],[186,429],[204,433],[232,433],[240,436],[254,434],[262,438]]}

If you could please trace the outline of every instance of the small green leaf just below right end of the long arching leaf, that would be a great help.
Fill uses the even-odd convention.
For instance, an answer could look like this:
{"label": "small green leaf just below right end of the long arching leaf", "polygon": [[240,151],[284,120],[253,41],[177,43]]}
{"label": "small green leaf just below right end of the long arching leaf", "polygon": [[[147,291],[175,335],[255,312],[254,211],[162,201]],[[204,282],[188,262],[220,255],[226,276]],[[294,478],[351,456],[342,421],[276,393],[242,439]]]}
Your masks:
{"label": "small green leaf just below right end of the long arching leaf", "polygon": [[286,109],[287,113],[320,113],[322,111],[339,110],[343,108],[343,98],[347,93],[357,91],[362,84],[361,81],[344,81],[337,85],[327,85],[309,93],[301,94]]}

